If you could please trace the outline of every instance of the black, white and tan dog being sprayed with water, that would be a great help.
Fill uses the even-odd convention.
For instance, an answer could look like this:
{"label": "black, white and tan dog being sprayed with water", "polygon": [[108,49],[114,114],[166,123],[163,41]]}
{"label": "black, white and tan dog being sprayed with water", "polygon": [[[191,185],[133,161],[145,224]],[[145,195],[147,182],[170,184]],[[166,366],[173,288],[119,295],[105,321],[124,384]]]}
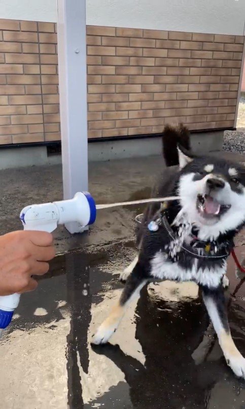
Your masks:
{"label": "black, white and tan dog being sprayed with water", "polygon": [[[183,148],[184,146],[184,148]],[[228,365],[245,378],[245,359],[230,334],[224,299],[226,259],[245,220],[245,169],[189,151],[189,132],[166,127],[163,153],[167,166],[153,197],[179,196],[145,211],[137,234],[138,256],[122,273],[126,280],[118,304],[99,326],[94,344],[116,331],[127,306],[154,280],[194,281],[213,321]]]}

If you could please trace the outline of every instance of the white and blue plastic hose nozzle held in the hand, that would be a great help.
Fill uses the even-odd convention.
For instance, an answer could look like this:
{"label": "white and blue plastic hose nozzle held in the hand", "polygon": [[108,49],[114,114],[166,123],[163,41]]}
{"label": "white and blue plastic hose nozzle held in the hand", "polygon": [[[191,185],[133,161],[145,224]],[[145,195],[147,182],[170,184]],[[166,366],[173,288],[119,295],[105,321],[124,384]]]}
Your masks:
{"label": "white and blue plastic hose nozzle held in the hand", "polygon": [[[57,225],[77,222],[82,227],[93,224],[96,207],[88,192],[78,192],[73,199],[24,207],[20,213],[24,230],[53,232]],[[20,294],[0,296],[0,336],[2,329],[11,322],[18,307]]]}

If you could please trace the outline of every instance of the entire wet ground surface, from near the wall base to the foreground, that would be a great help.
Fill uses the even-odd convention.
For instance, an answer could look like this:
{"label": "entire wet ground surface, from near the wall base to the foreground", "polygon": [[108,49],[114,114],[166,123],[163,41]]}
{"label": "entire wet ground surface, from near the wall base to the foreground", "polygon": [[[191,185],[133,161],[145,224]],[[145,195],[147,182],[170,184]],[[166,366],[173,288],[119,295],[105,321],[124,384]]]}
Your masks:
{"label": "entire wet ground surface, from near the wall base to the foreground", "polygon": [[[148,197],[162,167],[161,158],[96,163],[91,193],[97,203]],[[1,233],[20,227],[26,204],[61,199],[61,188],[59,166],[0,172]],[[0,407],[245,409],[245,382],[225,364],[193,283],[143,289],[111,344],[91,348],[120,294],[118,272],[134,257],[133,220],[141,210],[102,211],[84,236],[55,232],[62,255],[38,289],[21,296],[0,341]],[[244,233],[237,242],[245,242]],[[245,283],[235,278],[233,262],[228,275],[231,331],[245,356]]]}

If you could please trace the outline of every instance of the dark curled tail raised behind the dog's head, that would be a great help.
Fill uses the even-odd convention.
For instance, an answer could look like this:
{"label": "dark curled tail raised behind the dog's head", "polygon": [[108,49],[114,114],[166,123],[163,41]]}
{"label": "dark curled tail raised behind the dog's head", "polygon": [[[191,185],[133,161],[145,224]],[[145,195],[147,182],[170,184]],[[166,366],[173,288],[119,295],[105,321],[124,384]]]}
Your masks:
{"label": "dark curled tail raised behind the dog's head", "polygon": [[162,134],[163,157],[166,166],[179,165],[177,146],[183,146],[190,150],[190,132],[186,126],[180,124],[178,127],[166,125]]}

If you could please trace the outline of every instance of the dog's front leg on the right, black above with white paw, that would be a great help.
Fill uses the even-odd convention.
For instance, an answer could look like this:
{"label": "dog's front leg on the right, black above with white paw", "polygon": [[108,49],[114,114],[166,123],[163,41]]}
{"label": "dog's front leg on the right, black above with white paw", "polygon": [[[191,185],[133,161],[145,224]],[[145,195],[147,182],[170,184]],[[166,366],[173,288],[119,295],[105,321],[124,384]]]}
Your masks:
{"label": "dog's front leg on the right, black above with white paw", "polygon": [[212,289],[204,286],[202,287],[202,294],[204,304],[217,332],[227,364],[231,367],[235,375],[245,379],[245,359],[231,338],[222,285]]}

